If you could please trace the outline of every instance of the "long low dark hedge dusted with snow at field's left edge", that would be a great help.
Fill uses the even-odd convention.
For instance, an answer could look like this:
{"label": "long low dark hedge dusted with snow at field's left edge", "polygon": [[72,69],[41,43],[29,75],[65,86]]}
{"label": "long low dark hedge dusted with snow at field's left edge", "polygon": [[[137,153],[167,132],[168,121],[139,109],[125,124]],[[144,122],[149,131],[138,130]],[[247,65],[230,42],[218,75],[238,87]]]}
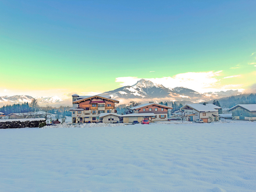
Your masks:
{"label": "long low dark hedge dusted with snow at field's left edge", "polygon": [[33,120],[33,121],[10,121],[10,122],[0,122],[0,129],[10,129],[10,128],[25,128],[25,127],[38,127],[39,123],[43,123],[45,120]]}

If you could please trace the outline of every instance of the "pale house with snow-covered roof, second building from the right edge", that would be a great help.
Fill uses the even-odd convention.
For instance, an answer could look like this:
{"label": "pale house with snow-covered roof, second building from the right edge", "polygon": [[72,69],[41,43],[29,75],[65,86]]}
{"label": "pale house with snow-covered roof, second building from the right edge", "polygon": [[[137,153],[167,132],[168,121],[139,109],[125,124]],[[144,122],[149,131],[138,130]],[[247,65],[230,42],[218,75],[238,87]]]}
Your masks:
{"label": "pale house with snow-covered roof, second building from the right edge", "polygon": [[205,123],[219,120],[219,111],[221,107],[214,104],[187,104],[180,108],[186,115],[186,120],[195,121],[202,119]]}

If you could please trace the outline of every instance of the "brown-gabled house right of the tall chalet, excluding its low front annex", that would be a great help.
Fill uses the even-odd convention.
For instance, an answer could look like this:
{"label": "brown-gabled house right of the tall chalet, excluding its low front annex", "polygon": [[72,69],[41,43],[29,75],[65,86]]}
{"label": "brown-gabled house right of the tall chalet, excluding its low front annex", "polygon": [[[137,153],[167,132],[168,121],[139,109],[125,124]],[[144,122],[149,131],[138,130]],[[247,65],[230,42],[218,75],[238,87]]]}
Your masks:
{"label": "brown-gabled house right of the tall chalet, excluding its low front annex", "polygon": [[150,102],[149,104],[138,105],[131,108],[131,110],[133,110],[133,113],[154,113],[155,116],[151,118],[151,122],[158,120],[168,120],[168,109],[172,109],[172,107],[155,104],[152,102]]}

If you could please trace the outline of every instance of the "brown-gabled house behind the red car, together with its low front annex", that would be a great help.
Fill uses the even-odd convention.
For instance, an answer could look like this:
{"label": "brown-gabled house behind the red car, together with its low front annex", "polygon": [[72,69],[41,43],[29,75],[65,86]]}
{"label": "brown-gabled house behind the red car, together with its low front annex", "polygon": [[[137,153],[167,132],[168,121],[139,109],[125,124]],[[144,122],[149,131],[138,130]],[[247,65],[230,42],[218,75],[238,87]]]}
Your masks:
{"label": "brown-gabled house behind the red car, together with its low front annex", "polygon": [[123,122],[132,122],[133,120],[140,121],[143,119],[148,119],[150,122],[168,120],[168,109],[172,109],[172,107],[155,104],[154,102],[134,106],[131,108],[133,115],[123,115]]}

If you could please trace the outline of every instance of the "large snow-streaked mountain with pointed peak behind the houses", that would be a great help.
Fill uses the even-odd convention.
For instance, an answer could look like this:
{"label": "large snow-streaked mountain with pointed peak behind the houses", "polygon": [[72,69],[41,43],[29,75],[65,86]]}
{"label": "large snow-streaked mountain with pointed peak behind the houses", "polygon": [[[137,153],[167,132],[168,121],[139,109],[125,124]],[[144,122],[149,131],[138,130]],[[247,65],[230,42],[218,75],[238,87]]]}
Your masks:
{"label": "large snow-streaked mountain with pointed peak behind the houses", "polygon": [[102,93],[101,95],[110,95],[115,99],[143,99],[145,102],[148,99],[202,102],[237,94],[239,94],[238,91],[232,90],[201,94],[189,88],[166,88],[161,84],[155,84],[152,81],[141,79],[133,86],[120,87],[116,90]]}

